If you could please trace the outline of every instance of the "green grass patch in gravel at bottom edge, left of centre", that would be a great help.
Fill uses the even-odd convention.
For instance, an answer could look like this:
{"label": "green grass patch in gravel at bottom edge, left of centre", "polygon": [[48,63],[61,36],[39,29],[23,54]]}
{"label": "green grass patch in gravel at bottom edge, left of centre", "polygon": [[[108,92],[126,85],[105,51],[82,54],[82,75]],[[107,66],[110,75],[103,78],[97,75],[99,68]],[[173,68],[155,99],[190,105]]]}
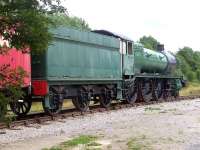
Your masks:
{"label": "green grass patch in gravel at bottom edge, left of centre", "polygon": [[101,144],[95,142],[95,140],[97,140],[96,136],[80,135],[79,137],[62,142],[57,146],[53,146],[50,149],[44,148],[43,150],[71,150],[78,146],[83,146],[84,150],[101,150]]}

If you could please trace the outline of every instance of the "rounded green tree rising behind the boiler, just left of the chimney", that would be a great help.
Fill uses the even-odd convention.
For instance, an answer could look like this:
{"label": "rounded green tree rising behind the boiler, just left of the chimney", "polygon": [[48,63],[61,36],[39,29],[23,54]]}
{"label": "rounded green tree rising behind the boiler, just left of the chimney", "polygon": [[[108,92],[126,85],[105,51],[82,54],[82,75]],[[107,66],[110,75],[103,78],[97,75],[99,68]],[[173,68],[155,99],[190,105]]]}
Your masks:
{"label": "rounded green tree rising behind the boiler, just left of the chimney", "polygon": [[143,36],[140,38],[139,42],[142,43],[145,48],[151,50],[157,50],[157,45],[160,44],[160,42],[152,36]]}

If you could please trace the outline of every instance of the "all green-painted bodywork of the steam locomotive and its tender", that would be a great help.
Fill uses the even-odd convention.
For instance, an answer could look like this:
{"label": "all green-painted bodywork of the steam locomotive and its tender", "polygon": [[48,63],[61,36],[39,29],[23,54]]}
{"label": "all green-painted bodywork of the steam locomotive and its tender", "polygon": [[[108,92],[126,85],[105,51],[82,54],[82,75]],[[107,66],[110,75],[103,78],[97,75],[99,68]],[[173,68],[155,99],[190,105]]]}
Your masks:
{"label": "all green-painted bodywork of the steam locomotive and its tender", "polygon": [[[168,59],[160,52],[136,43],[132,54],[120,54],[118,38],[71,28],[51,32],[54,39],[48,50],[32,54],[33,80],[47,80],[49,87],[112,84],[117,87],[116,99],[124,98],[124,81],[132,83],[136,78],[167,79],[173,82],[174,92],[181,89],[180,78],[166,74]],[[45,106],[50,105],[47,94]]]}

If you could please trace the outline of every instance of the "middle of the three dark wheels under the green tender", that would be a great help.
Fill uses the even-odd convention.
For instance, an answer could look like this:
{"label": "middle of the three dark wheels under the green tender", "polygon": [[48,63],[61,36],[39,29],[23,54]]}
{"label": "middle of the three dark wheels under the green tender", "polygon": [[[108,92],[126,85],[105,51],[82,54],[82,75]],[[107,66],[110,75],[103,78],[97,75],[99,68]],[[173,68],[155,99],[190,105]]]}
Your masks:
{"label": "middle of the three dark wheels under the green tender", "polygon": [[72,99],[72,103],[76,109],[84,112],[89,109],[90,99],[88,93],[85,90],[80,90],[79,96],[76,96]]}

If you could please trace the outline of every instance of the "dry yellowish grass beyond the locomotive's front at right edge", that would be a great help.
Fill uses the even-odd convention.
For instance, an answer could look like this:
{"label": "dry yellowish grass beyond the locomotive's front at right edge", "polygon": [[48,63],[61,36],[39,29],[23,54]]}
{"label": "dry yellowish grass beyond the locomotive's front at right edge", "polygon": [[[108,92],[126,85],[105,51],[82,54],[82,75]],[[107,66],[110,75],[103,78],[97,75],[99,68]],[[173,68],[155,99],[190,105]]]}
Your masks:
{"label": "dry yellowish grass beyond the locomotive's front at right edge", "polygon": [[180,91],[180,96],[199,95],[200,83],[189,82],[186,87]]}

